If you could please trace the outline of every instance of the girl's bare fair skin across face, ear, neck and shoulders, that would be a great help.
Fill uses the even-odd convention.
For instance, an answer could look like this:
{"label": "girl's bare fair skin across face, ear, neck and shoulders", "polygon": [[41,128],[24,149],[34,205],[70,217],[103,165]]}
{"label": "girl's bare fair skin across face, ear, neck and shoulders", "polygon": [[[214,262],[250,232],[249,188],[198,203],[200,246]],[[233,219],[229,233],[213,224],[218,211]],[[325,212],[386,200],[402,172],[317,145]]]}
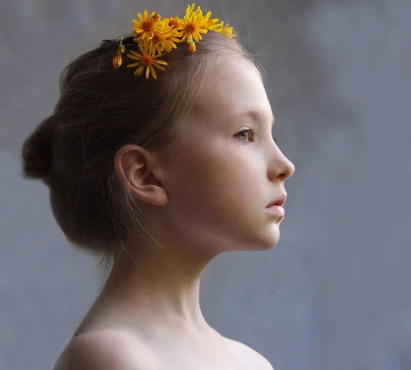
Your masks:
{"label": "girl's bare fair skin across face, ear, neck and shoulders", "polygon": [[[152,238],[130,235],[62,358],[81,357],[82,341],[105,354],[123,341],[126,353],[129,343],[129,354],[140,348],[140,361],[159,358],[155,369],[272,369],[256,351],[212,329],[199,305],[200,277],[212,259],[267,250],[279,240],[282,217],[266,206],[286,193],[284,180],[295,167],[275,144],[272,123],[256,67],[225,58],[180,123],[176,145],[156,153],[127,145],[117,153],[116,173]],[[243,131],[249,129],[258,136]],[[114,342],[104,347],[105,341]]]}

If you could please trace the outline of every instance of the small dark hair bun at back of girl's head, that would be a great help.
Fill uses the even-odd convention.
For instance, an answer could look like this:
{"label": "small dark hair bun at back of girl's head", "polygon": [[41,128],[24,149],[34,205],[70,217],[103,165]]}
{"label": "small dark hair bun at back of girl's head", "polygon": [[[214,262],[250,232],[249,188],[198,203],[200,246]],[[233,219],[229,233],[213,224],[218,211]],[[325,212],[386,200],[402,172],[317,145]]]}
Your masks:
{"label": "small dark hair bun at back of girl's head", "polygon": [[23,175],[47,182],[53,162],[54,116],[49,116],[25,139],[22,147]]}

